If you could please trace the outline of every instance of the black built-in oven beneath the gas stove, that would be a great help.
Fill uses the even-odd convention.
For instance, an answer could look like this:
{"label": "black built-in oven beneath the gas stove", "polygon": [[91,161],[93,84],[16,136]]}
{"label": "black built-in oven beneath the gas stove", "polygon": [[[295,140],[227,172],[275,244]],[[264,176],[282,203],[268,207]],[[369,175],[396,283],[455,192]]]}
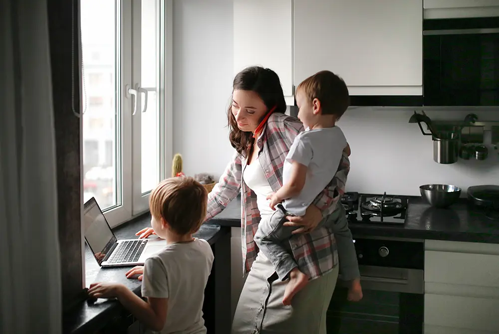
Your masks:
{"label": "black built-in oven beneath the gas stove", "polygon": [[363,298],[347,301],[338,279],[327,310],[328,334],[422,334],[423,240],[355,237]]}

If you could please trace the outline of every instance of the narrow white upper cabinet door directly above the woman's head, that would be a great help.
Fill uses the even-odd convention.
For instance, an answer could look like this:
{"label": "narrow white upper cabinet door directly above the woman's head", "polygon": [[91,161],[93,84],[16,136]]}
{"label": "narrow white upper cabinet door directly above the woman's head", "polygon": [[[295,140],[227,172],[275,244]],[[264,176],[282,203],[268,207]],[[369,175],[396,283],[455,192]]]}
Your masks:
{"label": "narrow white upper cabinet door directly above the woman's head", "polygon": [[293,95],[291,0],[234,0],[234,74],[259,65],[274,70]]}

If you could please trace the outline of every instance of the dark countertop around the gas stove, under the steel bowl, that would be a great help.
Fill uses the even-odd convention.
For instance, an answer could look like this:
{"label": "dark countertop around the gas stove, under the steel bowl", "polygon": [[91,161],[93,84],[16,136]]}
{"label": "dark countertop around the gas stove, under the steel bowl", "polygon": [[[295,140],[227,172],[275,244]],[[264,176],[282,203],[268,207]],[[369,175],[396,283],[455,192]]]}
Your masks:
{"label": "dark countertop around the gas stove, under the steel bowl", "polygon": [[[241,199],[237,197],[209,223],[241,227]],[[379,236],[465,242],[499,243],[499,220],[469,208],[465,198],[447,209],[433,208],[421,197],[409,199],[404,225],[349,223],[354,236]]]}

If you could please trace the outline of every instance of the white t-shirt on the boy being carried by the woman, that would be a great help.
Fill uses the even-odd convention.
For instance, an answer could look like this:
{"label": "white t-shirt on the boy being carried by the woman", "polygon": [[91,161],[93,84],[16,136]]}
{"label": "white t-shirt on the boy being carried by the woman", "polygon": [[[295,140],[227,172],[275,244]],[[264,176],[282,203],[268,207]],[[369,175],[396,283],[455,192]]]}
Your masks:
{"label": "white t-shirt on the boy being carried by the woman", "polygon": [[340,128],[305,130],[295,137],[282,168],[282,182],[290,177],[291,163],[306,167],[305,185],[299,195],[282,202],[286,211],[302,216],[315,197],[333,179],[346,147],[346,138]]}

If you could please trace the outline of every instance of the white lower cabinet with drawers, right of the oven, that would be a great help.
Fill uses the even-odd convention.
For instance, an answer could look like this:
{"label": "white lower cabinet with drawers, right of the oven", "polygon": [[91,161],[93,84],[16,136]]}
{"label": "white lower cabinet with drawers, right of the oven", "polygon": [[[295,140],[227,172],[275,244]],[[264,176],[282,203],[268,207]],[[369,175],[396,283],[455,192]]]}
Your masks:
{"label": "white lower cabinet with drawers, right of the oven", "polygon": [[425,334],[499,333],[499,245],[425,241]]}

